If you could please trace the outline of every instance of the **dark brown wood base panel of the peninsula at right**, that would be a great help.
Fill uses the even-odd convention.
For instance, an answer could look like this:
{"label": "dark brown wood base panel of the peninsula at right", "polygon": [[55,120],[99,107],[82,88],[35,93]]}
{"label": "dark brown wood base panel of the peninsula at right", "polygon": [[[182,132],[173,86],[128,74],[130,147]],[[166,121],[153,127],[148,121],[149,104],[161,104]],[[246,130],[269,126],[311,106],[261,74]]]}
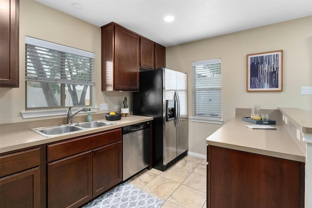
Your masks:
{"label": "dark brown wood base panel of the peninsula at right", "polygon": [[208,146],[208,208],[304,207],[304,163]]}

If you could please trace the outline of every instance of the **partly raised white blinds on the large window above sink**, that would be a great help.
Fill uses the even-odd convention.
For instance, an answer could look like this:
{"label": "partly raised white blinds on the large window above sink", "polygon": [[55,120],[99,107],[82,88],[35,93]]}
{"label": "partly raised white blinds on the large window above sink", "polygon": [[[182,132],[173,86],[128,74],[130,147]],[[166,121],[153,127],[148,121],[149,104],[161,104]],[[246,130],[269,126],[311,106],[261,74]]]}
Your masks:
{"label": "partly raised white blinds on the large window above sink", "polygon": [[26,81],[94,85],[94,53],[31,37],[25,50]]}

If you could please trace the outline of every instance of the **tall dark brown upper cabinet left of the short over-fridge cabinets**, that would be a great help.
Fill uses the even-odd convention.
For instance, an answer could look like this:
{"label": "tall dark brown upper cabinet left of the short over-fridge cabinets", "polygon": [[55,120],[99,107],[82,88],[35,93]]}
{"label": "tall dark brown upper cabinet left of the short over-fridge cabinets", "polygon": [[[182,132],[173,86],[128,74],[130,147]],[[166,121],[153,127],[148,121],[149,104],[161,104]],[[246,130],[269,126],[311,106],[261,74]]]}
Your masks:
{"label": "tall dark brown upper cabinet left of the short over-fridge cabinets", "polygon": [[139,36],[113,22],[101,32],[102,91],[138,91]]}

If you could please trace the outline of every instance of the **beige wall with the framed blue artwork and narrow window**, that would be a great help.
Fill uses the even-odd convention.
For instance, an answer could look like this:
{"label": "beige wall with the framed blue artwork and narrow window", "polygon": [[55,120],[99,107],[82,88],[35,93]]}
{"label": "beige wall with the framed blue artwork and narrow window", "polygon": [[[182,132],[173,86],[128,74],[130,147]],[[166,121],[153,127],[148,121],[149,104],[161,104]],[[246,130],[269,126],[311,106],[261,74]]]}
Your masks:
{"label": "beige wall with the framed blue artwork and narrow window", "polygon": [[[235,108],[296,107],[312,112],[312,95],[300,95],[301,86],[312,86],[312,16],[275,23],[229,35],[166,48],[166,67],[189,75],[189,116],[192,116],[193,61],[221,58],[221,112],[224,122]],[[207,25],[208,26],[208,25]],[[283,92],[246,92],[246,55],[284,51]],[[206,154],[205,138],[221,125],[189,123],[189,151]]]}

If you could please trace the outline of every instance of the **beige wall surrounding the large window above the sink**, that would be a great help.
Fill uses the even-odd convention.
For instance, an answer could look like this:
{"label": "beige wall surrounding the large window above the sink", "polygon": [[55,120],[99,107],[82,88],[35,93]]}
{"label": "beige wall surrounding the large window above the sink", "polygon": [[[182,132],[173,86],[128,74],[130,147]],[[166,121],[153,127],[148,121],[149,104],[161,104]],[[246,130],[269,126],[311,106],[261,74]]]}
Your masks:
{"label": "beige wall surrounding the large window above the sink", "polygon": [[115,111],[115,105],[122,104],[123,96],[131,95],[126,92],[101,92],[101,30],[99,27],[37,1],[20,0],[20,88],[0,88],[1,124],[38,120],[23,119],[20,116],[20,112],[25,111],[25,36],[56,42],[96,54],[96,84],[92,88],[93,106],[99,106],[99,103],[108,103],[109,111]]}

